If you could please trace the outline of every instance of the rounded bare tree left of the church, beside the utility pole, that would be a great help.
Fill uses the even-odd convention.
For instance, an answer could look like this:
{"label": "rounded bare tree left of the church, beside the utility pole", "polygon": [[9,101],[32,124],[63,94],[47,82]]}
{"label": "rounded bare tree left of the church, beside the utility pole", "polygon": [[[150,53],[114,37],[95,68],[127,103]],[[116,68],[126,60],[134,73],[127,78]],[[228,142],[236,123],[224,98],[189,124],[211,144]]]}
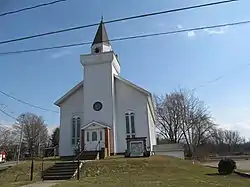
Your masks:
{"label": "rounded bare tree left of the church, beside the utility pole", "polygon": [[39,154],[40,148],[48,141],[48,130],[43,118],[32,113],[24,113],[18,117],[18,122],[14,128],[20,133],[23,126],[23,143],[27,146],[29,154],[32,151]]}

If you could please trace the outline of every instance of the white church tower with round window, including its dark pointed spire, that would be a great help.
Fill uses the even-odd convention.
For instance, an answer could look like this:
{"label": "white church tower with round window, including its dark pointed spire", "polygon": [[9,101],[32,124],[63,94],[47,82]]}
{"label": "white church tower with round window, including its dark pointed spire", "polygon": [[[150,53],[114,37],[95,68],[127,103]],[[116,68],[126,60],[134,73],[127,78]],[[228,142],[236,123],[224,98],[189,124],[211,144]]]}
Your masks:
{"label": "white church tower with round window, including its dark pointed spire", "polygon": [[81,55],[84,68],[83,121],[96,121],[110,127],[111,152],[116,153],[115,76],[120,73],[104,22],[101,20],[91,53]]}

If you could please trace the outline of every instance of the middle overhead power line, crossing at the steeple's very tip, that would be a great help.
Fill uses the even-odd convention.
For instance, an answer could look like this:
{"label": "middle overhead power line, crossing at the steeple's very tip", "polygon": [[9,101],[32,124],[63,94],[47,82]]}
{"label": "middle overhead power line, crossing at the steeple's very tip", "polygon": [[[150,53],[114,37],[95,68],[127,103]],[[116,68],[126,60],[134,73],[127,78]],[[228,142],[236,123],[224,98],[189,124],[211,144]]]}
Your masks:
{"label": "middle overhead power line, crossing at the steeple's very tip", "polygon": [[[160,11],[160,12],[141,14],[141,15],[137,15],[137,16],[129,16],[129,17],[124,17],[124,18],[113,19],[113,20],[110,20],[110,21],[105,21],[104,23],[109,24],[109,23],[132,20],[132,19],[150,17],[150,16],[155,16],[155,15],[179,12],[179,11],[184,11],[184,10],[191,10],[191,9],[197,9],[197,8],[202,8],[202,7],[214,6],[214,5],[219,5],[219,4],[226,4],[226,3],[236,2],[236,1],[239,1],[239,0],[225,0],[225,1],[207,3],[207,4],[200,4],[200,5],[195,5],[195,6],[188,6],[188,7],[183,7],[183,8],[165,10],[165,11]],[[54,35],[54,34],[58,34],[58,33],[79,30],[79,29],[93,27],[93,26],[97,26],[97,25],[99,25],[99,23],[93,23],[93,24],[89,24],[89,25],[81,25],[81,26],[70,27],[70,28],[66,28],[66,29],[46,32],[46,33],[40,33],[40,34],[35,34],[35,35],[30,35],[30,36],[24,36],[24,37],[20,37],[20,38],[14,38],[14,39],[10,39],[10,40],[1,41],[0,44],[6,44],[6,43],[12,43],[12,42],[17,42],[17,41],[22,41],[22,40],[28,40],[28,39],[32,39],[32,38],[38,38],[38,37],[43,37],[43,36],[48,36],[48,35]]]}

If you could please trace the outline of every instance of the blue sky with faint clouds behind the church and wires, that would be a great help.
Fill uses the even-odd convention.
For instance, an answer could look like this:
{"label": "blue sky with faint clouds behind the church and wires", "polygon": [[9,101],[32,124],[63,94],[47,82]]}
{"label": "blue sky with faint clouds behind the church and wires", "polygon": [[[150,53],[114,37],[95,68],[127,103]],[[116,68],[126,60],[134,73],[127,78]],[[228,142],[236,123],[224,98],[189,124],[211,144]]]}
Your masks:
{"label": "blue sky with faint clouds behind the church and wires", "polygon": [[[19,9],[48,0],[0,2],[0,12]],[[49,7],[0,17],[0,41],[119,17],[212,2],[211,0],[83,1],[68,0]],[[171,13],[106,25],[109,38],[171,31],[180,28],[222,24],[250,19],[250,1]],[[92,41],[96,27],[0,45],[0,52]],[[182,87],[210,108],[222,127],[239,130],[250,137],[249,25],[203,30],[113,42],[119,54],[121,75],[155,94]],[[54,101],[83,77],[80,54],[90,46],[20,55],[0,56],[0,90],[41,107],[58,110]],[[222,79],[207,83],[224,75]],[[59,115],[44,112],[0,95],[4,109],[14,116],[22,112],[41,115],[50,127]],[[2,123],[13,122],[0,114]]]}

